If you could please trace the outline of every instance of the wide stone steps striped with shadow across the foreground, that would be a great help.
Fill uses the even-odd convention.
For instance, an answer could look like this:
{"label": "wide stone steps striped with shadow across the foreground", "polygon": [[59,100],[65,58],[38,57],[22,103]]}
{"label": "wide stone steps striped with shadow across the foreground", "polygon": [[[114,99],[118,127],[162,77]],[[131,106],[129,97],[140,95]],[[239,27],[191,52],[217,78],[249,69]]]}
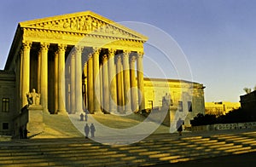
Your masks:
{"label": "wide stone steps striped with shadow across the foreground", "polygon": [[84,138],[14,140],[0,142],[0,166],[150,166],[251,152],[253,130],[150,135],[123,146]]}

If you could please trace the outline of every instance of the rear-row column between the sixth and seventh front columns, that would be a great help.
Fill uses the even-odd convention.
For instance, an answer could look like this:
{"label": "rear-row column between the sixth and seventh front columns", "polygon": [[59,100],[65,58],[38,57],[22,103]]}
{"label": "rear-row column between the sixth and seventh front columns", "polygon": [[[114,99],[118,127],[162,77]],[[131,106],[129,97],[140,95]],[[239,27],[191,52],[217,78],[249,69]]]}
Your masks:
{"label": "rear-row column between the sixth and seventh front columns", "polygon": [[122,57],[121,55],[117,55],[116,59],[116,73],[117,73],[117,104],[118,104],[118,112],[123,112],[123,79],[122,79]]}

